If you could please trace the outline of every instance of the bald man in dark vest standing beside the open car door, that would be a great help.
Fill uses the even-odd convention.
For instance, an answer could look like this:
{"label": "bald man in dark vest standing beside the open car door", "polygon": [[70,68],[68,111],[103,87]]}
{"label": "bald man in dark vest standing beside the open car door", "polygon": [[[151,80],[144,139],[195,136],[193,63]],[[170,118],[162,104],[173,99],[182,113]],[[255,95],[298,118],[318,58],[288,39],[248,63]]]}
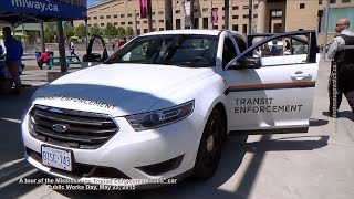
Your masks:
{"label": "bald man in dark vest standing beside the open car door", "polygon": [[335,32],[327,56],[332,60],[329,78],[329,112],[323,115],[336,117],[344,94],[354,113],[354,33],[348,30],[350,20],[341,18],[335,24]]}

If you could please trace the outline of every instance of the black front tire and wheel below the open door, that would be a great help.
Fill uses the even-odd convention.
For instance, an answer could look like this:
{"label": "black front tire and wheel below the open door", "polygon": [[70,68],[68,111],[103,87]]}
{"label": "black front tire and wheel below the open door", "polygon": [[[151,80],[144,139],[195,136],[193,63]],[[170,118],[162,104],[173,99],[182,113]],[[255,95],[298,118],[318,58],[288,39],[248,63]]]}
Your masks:
{"label": "black front tire and wheel below the open door", "polygon": [[221,143],[226,129],[225,121],[219,109],[214,109],[207,121],[198,147],[194,177],[198,180],[210,178],[219,164]]}

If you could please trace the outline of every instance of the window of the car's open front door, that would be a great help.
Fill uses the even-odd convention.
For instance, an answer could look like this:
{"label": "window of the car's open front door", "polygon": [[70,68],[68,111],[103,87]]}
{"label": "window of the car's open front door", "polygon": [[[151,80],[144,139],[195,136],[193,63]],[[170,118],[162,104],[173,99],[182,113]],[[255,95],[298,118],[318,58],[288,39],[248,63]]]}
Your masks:
{"label": "window of the car's open front door", "polygon": [[[260,38],[254,41],[260,41]],[[253,43],[256,43],[253,41]],[[279,38],[269,41],[253,51],[253,56],[285,56],[295,54],[308,54],[308,41],[303,36]]]}

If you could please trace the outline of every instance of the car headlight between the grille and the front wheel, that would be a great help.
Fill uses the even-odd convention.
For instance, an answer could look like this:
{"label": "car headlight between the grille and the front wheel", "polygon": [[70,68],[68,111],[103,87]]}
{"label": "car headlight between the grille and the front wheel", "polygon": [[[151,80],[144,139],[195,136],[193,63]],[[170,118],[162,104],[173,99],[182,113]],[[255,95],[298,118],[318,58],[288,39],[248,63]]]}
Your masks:
{"label": "car headlight between the grille and the front wheel", "polygon": [[125,118],[131,123],[136,132],[157,128],[159,126],[168,125],[177,121],[188,117],[195,106],[195,101],[173,106],[165,109],[148,112],[136,115],[128,115]]}

